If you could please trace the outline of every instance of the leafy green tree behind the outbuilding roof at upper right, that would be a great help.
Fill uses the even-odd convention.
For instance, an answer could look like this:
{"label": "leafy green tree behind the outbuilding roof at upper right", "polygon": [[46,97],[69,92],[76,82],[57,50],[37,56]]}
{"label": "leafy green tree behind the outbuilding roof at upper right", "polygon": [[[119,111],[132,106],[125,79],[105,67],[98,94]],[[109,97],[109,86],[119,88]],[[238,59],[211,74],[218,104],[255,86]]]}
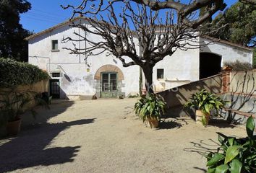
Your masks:
{"label": "leafy green tree behind the outbuilding roof at upper right", "polygon": [[226,25],[213,37],[248,47],[256,46],[256,6],[237,2],[213,19],[213,27]]}

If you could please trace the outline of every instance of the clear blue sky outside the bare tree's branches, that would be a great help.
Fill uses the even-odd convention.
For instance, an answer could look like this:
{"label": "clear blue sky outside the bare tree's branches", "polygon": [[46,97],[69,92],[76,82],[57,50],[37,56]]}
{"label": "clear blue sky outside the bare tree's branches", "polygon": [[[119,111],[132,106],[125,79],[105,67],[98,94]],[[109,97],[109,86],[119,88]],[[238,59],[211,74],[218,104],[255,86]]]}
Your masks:
{"label": "clear blue sky outside the bare tree's branches", "polygon": [[[27,30],[40,32],[49,27],[64,22],[72,15],[71,10],[64,10],[62,5],[79,4],[80,0],[28,0],[32,4],[32,9],[21,14],[20,23]],[[225,1],[225,0],[224,0]],[[225,1],[228,6],[234,4],[234,0]]]}

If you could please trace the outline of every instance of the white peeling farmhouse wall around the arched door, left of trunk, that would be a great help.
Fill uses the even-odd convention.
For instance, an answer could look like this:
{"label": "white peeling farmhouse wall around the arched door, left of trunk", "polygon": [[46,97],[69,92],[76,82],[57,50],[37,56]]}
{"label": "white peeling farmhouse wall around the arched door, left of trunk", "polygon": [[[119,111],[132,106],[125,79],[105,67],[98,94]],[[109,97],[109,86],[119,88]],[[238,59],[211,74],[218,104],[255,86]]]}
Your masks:
{"label": "white peeling farmhouse wall around the arched door, left of trunk", "polygon": [[[126,96],[130,93],[139,92],[140,68],[138,66],[124,68],[119,60],[113,56],[106,56],[106,53],[99,56],[89,56],[85,63],[85,55],[71,55],[69,50],[64,50],[63,48],[73,48],[72,42],[61,43],[61,40],[67,36],[75,38],[74,30],[78,32],[77,28],[64,25],[57,27],[52,32],[29,40],[29,63],[39,66],[48,71],[49,74],[61,72],[62,75],[59,78],[61,98],[93,96],[96,92],[95,73],[98,68],[106,64],[117,66],[123,72],[124,80],[122,81],[121,92],[124,92]],[[95,35],[87,36],[93,37],[94,40],[101,40],[101,37]],[[51,40],[59,41],[59,51],[51,51]],[[77,46],[79,45],[77,44]],[[85,48],[85,42],[80,43],[80,46]]]}

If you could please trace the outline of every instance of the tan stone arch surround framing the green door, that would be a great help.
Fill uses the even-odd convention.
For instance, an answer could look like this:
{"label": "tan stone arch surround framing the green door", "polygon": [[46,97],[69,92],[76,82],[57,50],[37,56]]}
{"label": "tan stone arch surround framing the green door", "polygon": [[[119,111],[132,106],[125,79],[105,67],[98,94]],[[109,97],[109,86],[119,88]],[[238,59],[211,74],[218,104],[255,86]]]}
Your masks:
{"label": "tan stone arch surround framing the green door", "polygon": [[103,87],[102,87],[102,75],[103,74],[116,74],[116,84],[117,90],[116,93],[113,94],[114,97],[118,97],[120,95],[124,95],[125,93],[121,92],[122,80],[124,80],[124,74],[121,69],[117,66],[107,64],[98,68],[95,73],[94,79],[96,80],[96,96],[102,97]]}

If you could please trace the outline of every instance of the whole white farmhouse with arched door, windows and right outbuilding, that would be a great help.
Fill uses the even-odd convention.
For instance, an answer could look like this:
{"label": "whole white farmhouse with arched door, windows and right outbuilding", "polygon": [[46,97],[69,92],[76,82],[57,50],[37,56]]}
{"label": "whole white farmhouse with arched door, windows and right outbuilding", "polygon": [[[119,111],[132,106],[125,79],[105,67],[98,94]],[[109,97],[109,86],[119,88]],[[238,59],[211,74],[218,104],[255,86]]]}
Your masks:
{"label": "whole white farmhouse with arched door, windows and right outbuilding", "polygon": [[[88,25],[82,18],[73,19],[73,22],[84,22],[84,25]],[[63,49],[73,48],[72,42],[61,43],[64,37],[75,38],[78,36],[74,35],[74,31],[80,34],[84,32],[69,24],[69,21],[63,22],[27,37],[29,63],[47,71],[51,76],[51,95],[62,99],[90,99],[93,95],[127,97],[139,93],[142,73],[139,66],[124,68],[118,59],[108,53],[98,56],[72,55],[69,50]],[[84,35],[95,41],[102,39],[88,33]],[[226,61],[239,60],[252,64],[250,48],[208,36],[200,36],[197,39],[201,43],[210,44],[200,49],[176,50],[174,55],[155,65],[155,92],[218,74]],[[80,42],[77,46],[86,48],[88,43]],[[137,50],[140,52],[139,46]]]}

